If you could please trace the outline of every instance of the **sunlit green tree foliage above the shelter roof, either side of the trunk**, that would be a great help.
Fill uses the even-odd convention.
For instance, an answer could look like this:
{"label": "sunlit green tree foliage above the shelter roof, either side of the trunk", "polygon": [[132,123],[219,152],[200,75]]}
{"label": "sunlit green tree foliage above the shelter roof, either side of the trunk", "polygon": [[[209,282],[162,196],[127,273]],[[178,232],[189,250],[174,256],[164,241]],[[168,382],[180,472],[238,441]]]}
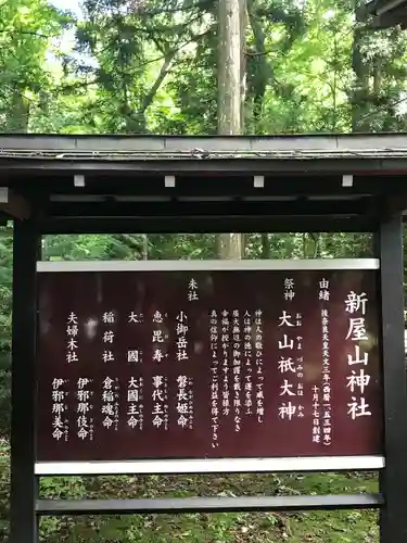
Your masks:
{"label": "sunlit green tree foliage above the shelter roof, either side of the trunk", "polygon": [[[0,4],[0,130],[216,131],[214,0],[82,8]],[[247,132],[405,129],[404,31],[356,23],[348,0],[246,0],[246,12]]]}

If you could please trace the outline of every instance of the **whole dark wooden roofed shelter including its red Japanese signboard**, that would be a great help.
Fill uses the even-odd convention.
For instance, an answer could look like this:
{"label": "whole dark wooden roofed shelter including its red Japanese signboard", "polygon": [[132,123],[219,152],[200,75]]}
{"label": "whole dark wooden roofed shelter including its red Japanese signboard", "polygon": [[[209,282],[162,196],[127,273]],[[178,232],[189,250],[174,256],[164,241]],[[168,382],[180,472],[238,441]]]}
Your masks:
{"label": "whole dark wooden roofed shelter including its red Japanese signboard", "polygon": [[[405,543],[406,141],[0,136],[11,543],[37,543],[44,515],[343,508],[380,509],[381,543]],[[47,233],[208,231],[371,232],[374,255],[41,262]],[[380,492],[38,497],[50,475],[354,469]]]}

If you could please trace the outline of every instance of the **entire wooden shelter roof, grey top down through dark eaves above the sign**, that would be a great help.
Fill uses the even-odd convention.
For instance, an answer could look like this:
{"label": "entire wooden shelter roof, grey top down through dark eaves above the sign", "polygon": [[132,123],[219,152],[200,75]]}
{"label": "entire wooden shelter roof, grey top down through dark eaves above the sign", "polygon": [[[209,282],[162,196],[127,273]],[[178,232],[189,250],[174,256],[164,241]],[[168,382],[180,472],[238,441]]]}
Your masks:
{"label": "entire wooden shelter roof, grey top down through dark eaves above the sign", "polygon": [[371,230],[407,207],[407,135],[2,135],[0,173],[44,232]]}

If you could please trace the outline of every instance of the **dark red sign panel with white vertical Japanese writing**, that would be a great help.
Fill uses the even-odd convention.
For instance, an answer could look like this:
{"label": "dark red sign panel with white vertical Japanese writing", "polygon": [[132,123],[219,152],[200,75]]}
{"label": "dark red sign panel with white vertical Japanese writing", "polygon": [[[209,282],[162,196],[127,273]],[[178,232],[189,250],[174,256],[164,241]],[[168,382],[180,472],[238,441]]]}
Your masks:
{"label": "dark red sign panel with white vertical Japanese writing", "polygon": [[38,462],[382,452],[376,270],[38,280]]}

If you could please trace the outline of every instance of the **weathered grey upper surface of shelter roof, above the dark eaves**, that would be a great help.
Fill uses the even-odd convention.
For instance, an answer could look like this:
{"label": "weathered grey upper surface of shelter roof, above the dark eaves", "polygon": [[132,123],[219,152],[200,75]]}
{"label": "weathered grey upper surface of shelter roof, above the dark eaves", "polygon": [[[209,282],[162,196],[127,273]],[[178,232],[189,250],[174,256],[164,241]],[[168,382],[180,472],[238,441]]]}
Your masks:
{"label": "weathered grey upper surface of shelter roof, above the dark eaves", "polygon": [[[76,169],[99,169],[101,163],[106,167],[106,162],[115,163],[116,169],[122,168],[120,163],[131,162],[133,168],[139,169],[140,162],[178,160],[190,164],[199,160],[233,160],[236,164],[242,160],[283,161],[285,167],[293,161],[319,161],[320,167],[338,159],[355,163],[404,161],[407,159],[407,134],[242,137],[0,135],[1,169],[66,168],[66,163],[72,163]],[[93,165],[85,166],[85,163]],[[378,167],[378,164],[373,166]],[[141,169],[148,169],[148,166]]]}

